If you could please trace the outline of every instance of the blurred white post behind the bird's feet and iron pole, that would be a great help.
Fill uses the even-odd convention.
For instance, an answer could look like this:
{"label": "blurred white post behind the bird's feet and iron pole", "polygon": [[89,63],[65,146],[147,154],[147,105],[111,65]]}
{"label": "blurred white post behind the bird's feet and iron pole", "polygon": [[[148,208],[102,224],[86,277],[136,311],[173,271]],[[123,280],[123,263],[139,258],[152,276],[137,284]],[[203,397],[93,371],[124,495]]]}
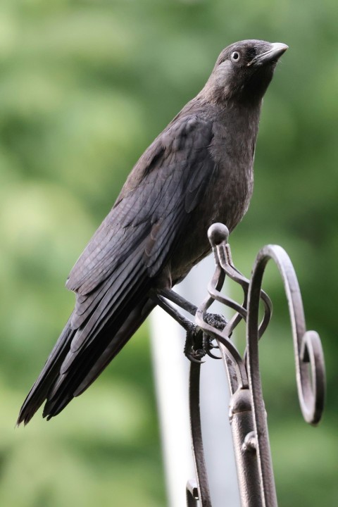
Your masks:
{"label": "blurred white post behind the bird's feet and iron pole", "polygon": [[[198,306],[207,296],[214,268],[210,256],[177,286],[177,292]],[[211,311],[224,313],[224,308],[215,304]],[[186,507],[185,486],[187,480],[195,478],[188,411],[189,361],[183,354],[184,340],[182,327],[161,308],[151,313],[168,507]],[[213,507],[240,506],[228,411],[229,391],[223,361],[207,358],[201,368],[201,422]]]}

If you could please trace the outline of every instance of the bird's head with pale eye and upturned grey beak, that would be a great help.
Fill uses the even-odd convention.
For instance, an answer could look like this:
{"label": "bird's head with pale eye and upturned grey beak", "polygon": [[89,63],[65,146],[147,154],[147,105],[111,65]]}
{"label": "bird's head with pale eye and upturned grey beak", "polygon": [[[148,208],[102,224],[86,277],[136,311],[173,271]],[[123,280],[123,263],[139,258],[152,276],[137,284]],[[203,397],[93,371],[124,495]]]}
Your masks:
{"label": "bird's head with pale eye and upturned grey beak", "polygon": [[204,94],[210,101],[235,99],[255,104],[265,94],[278,59],[288,46],[280,42],[244,40],[223,49]]}

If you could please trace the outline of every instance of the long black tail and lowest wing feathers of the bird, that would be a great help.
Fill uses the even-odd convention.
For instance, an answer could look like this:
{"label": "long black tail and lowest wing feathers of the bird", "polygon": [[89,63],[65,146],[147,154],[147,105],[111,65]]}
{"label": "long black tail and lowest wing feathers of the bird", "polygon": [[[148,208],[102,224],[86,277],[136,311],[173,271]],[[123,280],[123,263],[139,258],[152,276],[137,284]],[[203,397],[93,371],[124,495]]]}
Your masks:
{"label": "long black tail and lowest wing feathers of the bird", "polygon": [[[45,400],[44,417],[49,419],[61,412],[106,368],[154,308],[145,295],[151,279],[140,262],[141,256],[142,251],[134,254],[129,263],[117,269],[116,276],[87,294],[91,311],[80,316],[80,327],[74,325],[75,307],[23,403],[18,424],[27,424]],[[145,305],[151,306],[147,312]]]}

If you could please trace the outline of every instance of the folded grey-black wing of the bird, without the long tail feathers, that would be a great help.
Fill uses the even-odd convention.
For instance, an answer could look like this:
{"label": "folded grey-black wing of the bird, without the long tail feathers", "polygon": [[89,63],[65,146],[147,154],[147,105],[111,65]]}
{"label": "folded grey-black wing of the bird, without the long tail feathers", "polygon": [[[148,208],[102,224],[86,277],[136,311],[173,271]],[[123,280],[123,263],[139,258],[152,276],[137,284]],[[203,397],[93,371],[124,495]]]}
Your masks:
{"label": "folded grey-black wing of the bird, without the long tail feathers", "polygon": [[140,158],[68,277],[67,287],[77,294],[73,327],[107,292],[118,298],[137,277],[154,277],[163,268],[215,170],[212,137],[211,121],[178,118]]}

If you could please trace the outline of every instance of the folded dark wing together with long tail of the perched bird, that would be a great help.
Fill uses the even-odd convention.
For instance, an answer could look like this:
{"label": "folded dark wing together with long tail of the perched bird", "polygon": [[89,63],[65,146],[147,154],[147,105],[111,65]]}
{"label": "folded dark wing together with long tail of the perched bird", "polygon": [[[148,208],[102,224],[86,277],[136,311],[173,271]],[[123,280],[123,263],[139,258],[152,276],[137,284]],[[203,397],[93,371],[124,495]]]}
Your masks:
{"label": "folded dark wing together with long tail of the perched bird", "polygon": [[63,410],[154,307],[147,297],[152,278],[180,241],[215,170],[212,137],[211,121],[179,116],[139,159],[70,273],[67,286],[77,301],[65,339],[54,347],[18,423],[27,423],[45,398],[45,416]]}

